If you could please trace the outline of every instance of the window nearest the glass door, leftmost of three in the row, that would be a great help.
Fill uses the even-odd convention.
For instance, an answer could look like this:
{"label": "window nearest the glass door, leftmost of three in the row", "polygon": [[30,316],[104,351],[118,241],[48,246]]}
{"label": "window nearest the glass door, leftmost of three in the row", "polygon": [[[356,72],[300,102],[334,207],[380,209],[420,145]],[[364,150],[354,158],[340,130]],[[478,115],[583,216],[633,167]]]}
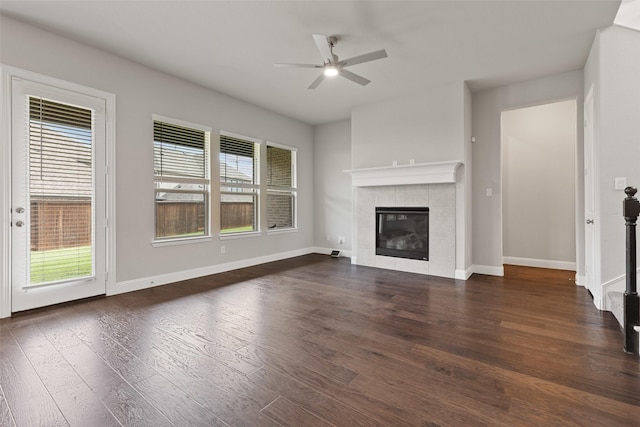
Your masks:
{"label": "window nearest the glass door, leftmost of three in the row", "polygon": [[211,130],[154,116],[156,240],[209,235]]}

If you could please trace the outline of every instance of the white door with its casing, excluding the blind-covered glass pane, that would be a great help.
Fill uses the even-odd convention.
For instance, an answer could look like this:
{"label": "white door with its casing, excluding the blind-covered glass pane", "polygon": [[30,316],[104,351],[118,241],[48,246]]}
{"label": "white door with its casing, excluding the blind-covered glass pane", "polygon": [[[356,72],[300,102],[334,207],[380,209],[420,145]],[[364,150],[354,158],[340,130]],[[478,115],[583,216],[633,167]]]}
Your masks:
{"label": "white door with its casing, excluding the blind-covered glass pane", "polygon": [[[12,312],[56,304],[115,289],[115,95],[10,66],[2,74],[2,133],[0,152],[3,170],[0,183],[2,233],[0,233],[0,318]],[[89,109],[94,114],[92,146],[93,261],[90,274],[79,280],[28,283],[28,96]],[[26,139],[25,139],[26,138]],[[21,142],[19,142],[21,141]],[[25,195],[27,197],[25,198]],[[19,212],[18,208],[22,208]],[[22,221],[22,227],[16,227]],[[78,277],[80,277],[78,276]],[[111,292],[109,292],[111,291]]]}

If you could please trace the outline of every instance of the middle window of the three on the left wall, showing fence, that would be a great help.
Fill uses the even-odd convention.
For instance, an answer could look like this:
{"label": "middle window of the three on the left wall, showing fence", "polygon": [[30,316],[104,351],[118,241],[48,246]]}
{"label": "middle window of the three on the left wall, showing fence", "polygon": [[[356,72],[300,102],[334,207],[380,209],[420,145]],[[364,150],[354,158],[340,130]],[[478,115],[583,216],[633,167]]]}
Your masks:
{"label": "middle window of the three on the left wall, showing fence", "polygon": [[220,233],[258,230],[259,141],[220,135]]}

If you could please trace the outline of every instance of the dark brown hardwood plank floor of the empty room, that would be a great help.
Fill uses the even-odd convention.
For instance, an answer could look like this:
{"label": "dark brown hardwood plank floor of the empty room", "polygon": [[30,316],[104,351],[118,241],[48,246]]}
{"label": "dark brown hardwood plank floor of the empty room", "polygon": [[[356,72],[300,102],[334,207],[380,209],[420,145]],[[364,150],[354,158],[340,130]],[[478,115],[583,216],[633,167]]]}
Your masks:
{"label": "dark brown hardwood plank floor of the empty room", "polygon": [[573,283],[308,255],[0,321],[2,426],[638,426]]}

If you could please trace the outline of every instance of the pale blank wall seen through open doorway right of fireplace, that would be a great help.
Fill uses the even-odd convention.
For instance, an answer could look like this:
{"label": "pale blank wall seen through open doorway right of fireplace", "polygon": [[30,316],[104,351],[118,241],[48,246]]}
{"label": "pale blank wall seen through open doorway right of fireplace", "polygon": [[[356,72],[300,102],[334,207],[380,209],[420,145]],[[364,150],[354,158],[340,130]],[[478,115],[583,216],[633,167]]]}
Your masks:
{"label": "pale blank wall seen through open doorway right of fireplace", "polygon": [[575,146],[574,100],[502,114],[505,263],[575,268]]}

